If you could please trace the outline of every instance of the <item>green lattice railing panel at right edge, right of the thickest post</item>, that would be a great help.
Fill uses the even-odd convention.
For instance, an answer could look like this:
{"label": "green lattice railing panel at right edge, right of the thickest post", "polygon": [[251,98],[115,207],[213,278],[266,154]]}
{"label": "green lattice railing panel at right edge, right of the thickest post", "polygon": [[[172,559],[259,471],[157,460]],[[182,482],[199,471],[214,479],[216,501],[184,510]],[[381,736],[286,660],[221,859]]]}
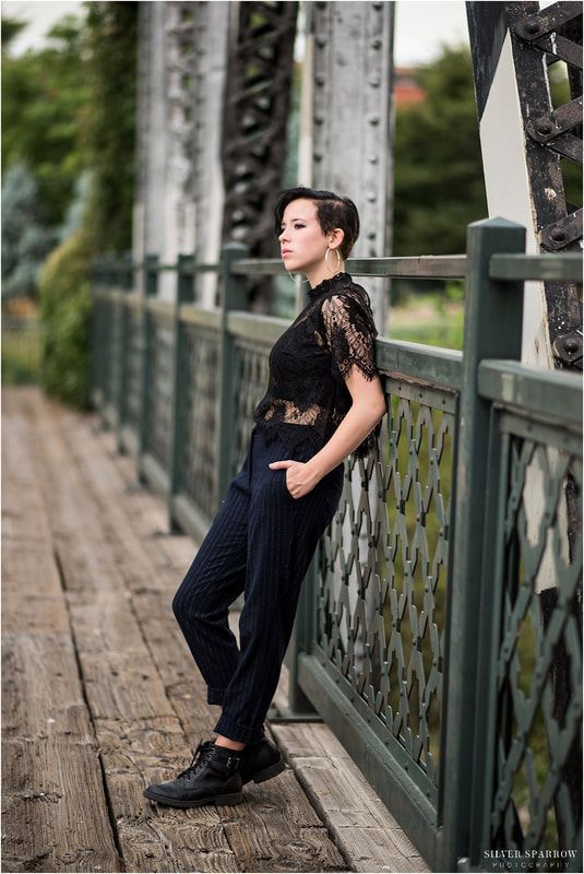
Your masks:
{"label": "green lattice railing panel at right edge, right of the thickest post", "polygon": [[[573,851],[582,842],[582,543],[568,520],[582,518],[582,447],[551,428],[531,436],[533,426],[509,415],[503,429],[508,488],[487,845],[522,854]],[[525,870],[525,857],[520,861]],[[562,870],[576,870],[564,861]]]}

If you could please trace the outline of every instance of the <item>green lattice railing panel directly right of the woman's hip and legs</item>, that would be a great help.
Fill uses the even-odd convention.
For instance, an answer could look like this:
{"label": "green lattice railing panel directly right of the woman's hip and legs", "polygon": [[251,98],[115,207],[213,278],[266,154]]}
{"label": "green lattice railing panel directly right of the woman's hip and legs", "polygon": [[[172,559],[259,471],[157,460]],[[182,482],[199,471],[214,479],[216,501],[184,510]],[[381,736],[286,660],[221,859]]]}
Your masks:
{"label": "green lattice railing panel directly right of the woman's hip and legs", "polygon": [[456,397],[394,378],[385,392],[378,449],[347,462],[323,540],[318,643],[428,790],[438,784]]}

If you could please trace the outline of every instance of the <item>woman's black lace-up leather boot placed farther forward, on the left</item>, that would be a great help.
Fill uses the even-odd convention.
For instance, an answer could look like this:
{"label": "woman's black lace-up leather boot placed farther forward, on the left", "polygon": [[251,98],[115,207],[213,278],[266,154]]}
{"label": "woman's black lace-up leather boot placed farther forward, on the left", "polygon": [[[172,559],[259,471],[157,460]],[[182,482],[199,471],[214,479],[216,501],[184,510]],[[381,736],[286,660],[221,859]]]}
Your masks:
{"label": "woman's black lace-up leather boot placed farther forward, on the left", "polygon": [[193,760],[175,780],[152,783],[144,795],[170,807],[239,804],[243,800],[240,758],[241,753],[205,741],[199,744]]}

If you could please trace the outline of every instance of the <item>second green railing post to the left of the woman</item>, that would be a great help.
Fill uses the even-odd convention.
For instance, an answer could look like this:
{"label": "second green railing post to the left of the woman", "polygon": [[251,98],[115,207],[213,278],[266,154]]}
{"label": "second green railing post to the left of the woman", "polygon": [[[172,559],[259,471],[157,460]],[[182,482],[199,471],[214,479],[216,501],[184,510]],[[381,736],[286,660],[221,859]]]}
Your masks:
{"label": "second green railing post to the left of the woman", "polygon": [[172,406],[170,417],[170,457],[168,471],[168,530],[176,531],[172,512],[174,498],[179,491],[179,456],[183,439],[182,405],[184,401],[184,373],[180,366],[182,354],[182,329],[180,324],[180,306],[194,298],[194,256],[179,255],[177,259],[177,293],[175,295],[175,312],[172,320]]}

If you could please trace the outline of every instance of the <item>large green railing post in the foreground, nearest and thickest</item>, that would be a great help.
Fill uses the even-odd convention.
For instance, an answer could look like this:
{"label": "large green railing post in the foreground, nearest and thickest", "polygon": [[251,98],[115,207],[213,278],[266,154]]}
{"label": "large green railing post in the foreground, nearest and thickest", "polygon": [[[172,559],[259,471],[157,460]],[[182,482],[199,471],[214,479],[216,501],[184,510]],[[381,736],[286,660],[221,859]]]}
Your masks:
{"label": "large green railing post in the foreground, nearest and thickest", "polygon": [[464,865],[462,860],[470,848],[473,804],[480,792],[474,771],[479,722],[485,720],[484,678],[478,668],[480,648],[489,645],[493,611],[489,610],[489,580],[481,574],[491,406],[478,394],[478,366],[485,358],[519,361],[522,347],[523,284],[491,280],[489,262],[494,253],[523,252],[524,247],[525,228],[513,222],[493,218],[468,226],[463,388],[448,593],[439,871],[456,871],[458,863]]}

